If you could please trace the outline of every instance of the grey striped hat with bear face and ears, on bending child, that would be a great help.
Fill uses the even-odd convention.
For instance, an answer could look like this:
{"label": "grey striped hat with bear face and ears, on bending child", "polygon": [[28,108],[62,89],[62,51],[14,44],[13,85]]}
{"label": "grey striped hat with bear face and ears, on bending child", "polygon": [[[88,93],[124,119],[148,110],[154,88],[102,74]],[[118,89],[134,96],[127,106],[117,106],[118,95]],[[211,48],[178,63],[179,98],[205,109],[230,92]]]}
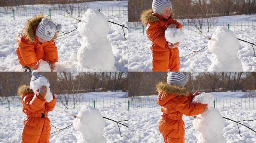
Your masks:
{"label": "grey striped hat with bear face and ears, on bending child", "polygon": [[36,28],[36,35],[46,41],[51,41],[55,33],[60,29],[61,29],[61,24],[55,25],[48,18],[43,18]]}

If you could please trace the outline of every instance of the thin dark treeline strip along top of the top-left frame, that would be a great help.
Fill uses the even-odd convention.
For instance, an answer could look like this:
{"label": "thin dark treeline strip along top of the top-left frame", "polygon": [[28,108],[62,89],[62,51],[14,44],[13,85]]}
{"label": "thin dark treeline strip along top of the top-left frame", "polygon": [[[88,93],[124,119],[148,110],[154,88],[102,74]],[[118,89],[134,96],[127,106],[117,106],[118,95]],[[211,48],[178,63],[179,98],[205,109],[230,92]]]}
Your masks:
{"label": "thin dark treeline strip along top of the top-left frame", "polygon": [[84,2],[90,2],[90,1],[106,1],[106,0],[0,0],[0,6],[21,6],[21,5],[27,5],[27,4],[68,4],[68,3],[84,3]]}

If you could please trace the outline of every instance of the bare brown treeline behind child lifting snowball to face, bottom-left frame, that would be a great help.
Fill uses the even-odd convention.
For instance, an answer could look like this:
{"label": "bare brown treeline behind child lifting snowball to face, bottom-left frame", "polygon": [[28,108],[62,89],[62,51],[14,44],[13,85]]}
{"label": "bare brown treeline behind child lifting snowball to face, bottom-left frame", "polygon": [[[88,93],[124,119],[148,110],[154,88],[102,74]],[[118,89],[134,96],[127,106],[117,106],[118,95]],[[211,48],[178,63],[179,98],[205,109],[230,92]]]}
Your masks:
{"label": "bare brown treeline behind child lifting snowball to face, bottom-left frame", "polygon": [[[74,95],[84,92],[127,91],[127,72],[39,72],[50,82],[51,92]],[[20,85],[30,85],[31,73],[1,72],[0,97],[16,96]]]}

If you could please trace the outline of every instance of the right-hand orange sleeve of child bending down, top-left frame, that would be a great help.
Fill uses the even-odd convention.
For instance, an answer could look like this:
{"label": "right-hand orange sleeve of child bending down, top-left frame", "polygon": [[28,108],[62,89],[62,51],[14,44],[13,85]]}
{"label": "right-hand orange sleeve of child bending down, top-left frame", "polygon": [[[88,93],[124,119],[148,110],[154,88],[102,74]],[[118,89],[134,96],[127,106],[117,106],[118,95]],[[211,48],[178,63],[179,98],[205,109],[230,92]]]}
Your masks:
{"label": "right-hand orange sleeve of child bending down, top-left frame", "polygon": [[44,50],[47,61],[50,63],[58,62],[58,49],[54,41],[49,42],[49,44],[44,47]]}

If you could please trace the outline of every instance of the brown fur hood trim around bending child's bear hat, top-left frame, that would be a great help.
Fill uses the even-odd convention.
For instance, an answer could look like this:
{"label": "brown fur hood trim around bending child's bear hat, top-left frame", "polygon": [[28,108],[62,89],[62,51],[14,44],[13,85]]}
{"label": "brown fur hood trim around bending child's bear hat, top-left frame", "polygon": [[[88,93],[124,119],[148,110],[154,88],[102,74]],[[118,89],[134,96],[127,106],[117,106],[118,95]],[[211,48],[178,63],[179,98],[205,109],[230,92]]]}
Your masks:
{"label": "brown fur hood trim around bending child's bear hat, top-left frame", "polygon": [[[26,40],[28,40],[29,42],[35,42],[36,41],[36,35],[35,35],[34,27],[38,26],[43,18],[48,18],[48,16],[45,16],[42,13],[40,13],[39,15],[36,15],[33,18],[28,19],[28,22],[27,22],[25,28],[23,29],[23,33],[26,36],[26,38],[25,38]],[[48,18],[48,19],[52,20],[51,18]],[[55,35],[51,39],[51,41],[56,40],[57,35],[58,35],[58,31],[55,33]]]}

